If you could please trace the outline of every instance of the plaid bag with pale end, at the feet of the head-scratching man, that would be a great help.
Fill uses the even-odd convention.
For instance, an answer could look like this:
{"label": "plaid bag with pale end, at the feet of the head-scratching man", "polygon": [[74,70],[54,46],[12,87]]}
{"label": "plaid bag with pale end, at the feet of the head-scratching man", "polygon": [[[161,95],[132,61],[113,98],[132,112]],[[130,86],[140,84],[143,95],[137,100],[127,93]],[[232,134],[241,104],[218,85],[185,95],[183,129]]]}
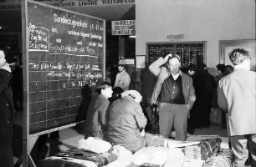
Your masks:
{"label": "plaid bag with pale end, at the feet of the head-scratching man", "polygon": [[215,149],[220,149],[220,138],[202,139],[200,144],[186,146],[184,154],[187,159],[202,159],[206,160],[212,156]]}

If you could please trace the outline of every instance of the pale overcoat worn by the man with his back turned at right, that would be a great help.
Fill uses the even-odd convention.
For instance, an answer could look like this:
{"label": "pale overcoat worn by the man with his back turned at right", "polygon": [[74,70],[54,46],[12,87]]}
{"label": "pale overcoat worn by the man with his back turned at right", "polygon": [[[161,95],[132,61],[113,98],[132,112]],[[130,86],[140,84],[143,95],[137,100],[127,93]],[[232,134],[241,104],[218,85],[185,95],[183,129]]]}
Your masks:
{"label": "pale overcoat worn by the man with his back turned at right", "polygon": [[230,136],[256,134],[256,73],[237,68],[218,83],[218,106],[228,109]]}

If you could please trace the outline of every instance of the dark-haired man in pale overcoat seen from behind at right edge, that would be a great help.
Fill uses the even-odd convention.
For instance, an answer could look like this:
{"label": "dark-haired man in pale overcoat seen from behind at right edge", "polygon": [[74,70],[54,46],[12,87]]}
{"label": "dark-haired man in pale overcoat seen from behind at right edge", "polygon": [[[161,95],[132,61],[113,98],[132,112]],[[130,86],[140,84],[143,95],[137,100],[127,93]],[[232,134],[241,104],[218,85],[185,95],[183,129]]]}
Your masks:
{"label": "dark-haired man in pale overcoat seen from behind at right edge", "polygon": [[247,50],[235,48],[229,59],[234,70],[218,83],[218,106],[228,112],[234,167],[256,166],[256,73]]}

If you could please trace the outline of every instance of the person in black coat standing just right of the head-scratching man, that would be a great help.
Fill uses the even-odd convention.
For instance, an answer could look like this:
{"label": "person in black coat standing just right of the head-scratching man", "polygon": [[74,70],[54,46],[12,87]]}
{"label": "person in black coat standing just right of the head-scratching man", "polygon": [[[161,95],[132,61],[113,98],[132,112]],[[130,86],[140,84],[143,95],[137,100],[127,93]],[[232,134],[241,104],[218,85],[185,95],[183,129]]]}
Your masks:
{"label": "person in black coat standing just right of the head-scratching man", "polygon": [[198,64],[193,81],[197,99],[192,109],[192,124],[195,128],[207,128],[211,124],[212,94],[217,85],[204,63]]}

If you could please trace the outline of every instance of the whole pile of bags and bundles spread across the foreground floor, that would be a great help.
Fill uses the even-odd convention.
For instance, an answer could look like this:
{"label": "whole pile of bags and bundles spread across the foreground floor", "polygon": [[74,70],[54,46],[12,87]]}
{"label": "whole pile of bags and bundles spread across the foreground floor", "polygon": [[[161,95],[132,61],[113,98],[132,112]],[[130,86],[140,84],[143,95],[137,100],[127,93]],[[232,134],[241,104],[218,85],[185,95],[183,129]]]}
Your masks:
{"label": "whole pile of bags and bundles spread across the foreground floor", "polygon": [[[191,140],[193,141],[193,140]],[[39,160],[37,167],[232,167],[233,152],[221,148],[222,139],[210,137],[177,145],[168,140],[168,146],[150,146],[131,151],[120,145],[88,138],[79,141],[77,149],[61,151]],[[172,144],[173,142],[173,144]],[[183,144],[183,143],[182,143]]]}

